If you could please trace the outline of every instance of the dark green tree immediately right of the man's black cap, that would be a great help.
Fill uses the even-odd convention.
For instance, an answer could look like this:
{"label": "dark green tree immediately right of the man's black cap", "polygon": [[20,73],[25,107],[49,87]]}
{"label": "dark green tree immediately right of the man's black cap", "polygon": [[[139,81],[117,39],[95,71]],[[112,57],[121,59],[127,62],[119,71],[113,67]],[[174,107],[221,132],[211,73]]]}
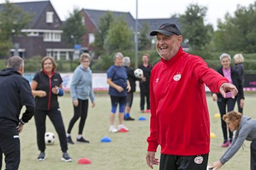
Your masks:
{"label": "dark green tree immediately right of the man's black cap", "polygon": [[191,4],[184,15],[180,15],[181,32],[183,39],[193,50],[202,50],[211,40],[212,25],[205,25],[204,20],[207,7]]}

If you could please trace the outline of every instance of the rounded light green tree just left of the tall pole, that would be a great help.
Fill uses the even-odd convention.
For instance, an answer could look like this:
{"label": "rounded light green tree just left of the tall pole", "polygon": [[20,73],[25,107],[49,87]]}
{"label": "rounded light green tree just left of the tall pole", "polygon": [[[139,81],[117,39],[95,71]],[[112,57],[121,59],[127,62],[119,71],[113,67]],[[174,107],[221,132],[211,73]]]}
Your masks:
{"label": "rounded light green tree just left of the tall pole", "polygon": [[110,25],[104,47],[109,53],[122,52],[133,47],[133,31],[128,27],[127,22],[122,16],[115,19]]}

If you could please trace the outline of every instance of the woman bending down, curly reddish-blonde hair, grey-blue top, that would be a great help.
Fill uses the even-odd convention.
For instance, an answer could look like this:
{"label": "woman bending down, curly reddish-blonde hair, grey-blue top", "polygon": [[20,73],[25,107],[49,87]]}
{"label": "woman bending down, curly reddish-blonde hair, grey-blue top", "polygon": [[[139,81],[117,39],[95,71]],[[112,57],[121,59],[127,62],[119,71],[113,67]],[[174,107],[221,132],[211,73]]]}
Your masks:
{"label": "woman bending down, curly reddish-blonde hair, grey-blue top", "polygon": [[222,118],[230,131],[237,130],[236,136],[233,139],[231,146],[226,150],[221,159],[217,162],[210,164],[209,168],[220,169],[222,165],[228,162],[229,159],[236,154],[243,142],[251,141],[251,163],[250,169],[256,169],[256,120],[250,117],[243,116],[241,113],[232,111],[225,114]]}

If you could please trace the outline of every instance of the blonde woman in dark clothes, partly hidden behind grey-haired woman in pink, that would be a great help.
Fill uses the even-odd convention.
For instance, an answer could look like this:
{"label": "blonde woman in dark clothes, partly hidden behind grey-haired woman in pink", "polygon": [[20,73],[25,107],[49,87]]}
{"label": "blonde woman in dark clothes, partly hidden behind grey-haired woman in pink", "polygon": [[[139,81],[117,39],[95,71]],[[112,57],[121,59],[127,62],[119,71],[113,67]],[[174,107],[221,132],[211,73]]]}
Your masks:
{"label": "blonde woman in dark clothes, partly hidden behind grey-haired woman in pink", "polygon": [[[243,61],[245,60],[243,58],[242,54],[236,54],[234,55],[234,69],[237,70],[238,75],[240,76],[242,80],[242,85],[245,83],[245,67],[243,66]],[[241,104],[242,101],[242,104]],[[237,97],[237,107],[238,107],[238,112],[243,113],[243,105],[244,105],[244,100],[241,100],[241,97]]]}

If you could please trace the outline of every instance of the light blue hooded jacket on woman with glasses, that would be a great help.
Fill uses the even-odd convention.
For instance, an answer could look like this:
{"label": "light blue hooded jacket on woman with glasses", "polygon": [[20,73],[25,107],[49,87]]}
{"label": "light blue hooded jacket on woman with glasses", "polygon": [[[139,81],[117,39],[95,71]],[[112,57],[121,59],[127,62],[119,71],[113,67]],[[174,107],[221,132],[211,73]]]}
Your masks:
{"label": "light blue hooded jacket on woman with glasses", "polygon": [[76,67],[71,82],[70,92],[73,100],[87,100],[90,97],[90,100],[94,102],[92,70],[90,70],[90,68],[85,70],[82,65]]}

